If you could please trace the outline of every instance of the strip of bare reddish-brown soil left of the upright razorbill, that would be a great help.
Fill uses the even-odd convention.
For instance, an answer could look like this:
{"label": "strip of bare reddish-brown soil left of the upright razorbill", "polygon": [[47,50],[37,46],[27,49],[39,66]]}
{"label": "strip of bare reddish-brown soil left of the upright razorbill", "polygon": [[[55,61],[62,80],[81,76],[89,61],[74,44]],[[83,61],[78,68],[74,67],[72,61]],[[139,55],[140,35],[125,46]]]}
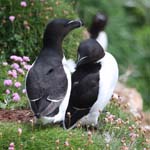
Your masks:
{"label": "strip of bare reddish-brown soil left of the upright razorbill", "polygon": [[0,109],[0,122],[29,122],[33,119],[31,110],[2,110]]}

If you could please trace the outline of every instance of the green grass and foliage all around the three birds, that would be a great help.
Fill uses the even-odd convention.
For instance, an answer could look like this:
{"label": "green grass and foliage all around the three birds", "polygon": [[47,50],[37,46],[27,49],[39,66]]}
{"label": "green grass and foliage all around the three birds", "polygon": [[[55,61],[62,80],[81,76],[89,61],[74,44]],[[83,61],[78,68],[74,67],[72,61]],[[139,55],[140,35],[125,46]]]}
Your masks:
{"label": "green grass and foliage all around the three birds", "polygon": [[[78,18],[72,7],[83,18],[87,27],[97,11],[104,11],[109,16],[106,29],[109,38],[108,49],[117,58],[121,74],[127,69],[133,71],[128,84],[136,86],[142,92],[145,106],[148,106],[150,22],[148,8],[145,9],[146,5],[143,5],[145,1],[139,5],[140,0],[136,0],[136,7],[125,5],[123,0],[71,0],[69,4],[68,1],[26,0],[26,5],[21,5],[19,0],[0,1],[0,108],[29,107],[23,92],[25,74],[42,47],[44,28],[53,18]],[[65,39],[63,47],[67,57],[76,57],[83,30],[74,30]],[[15,58],[12,58],[13,55],[16,55]],[[29,56],[31,62],[23,56]],[[19,60],[16,60],[16,57]],[[22,69],[22,73],[18,69]],[[5,81],[8,79],[9,82]],[[65,131],[57,125],[34,125],[33,120],[28,123],[1,121],[0,149],[149,149],[146,140],[148,137],[145,129],[139,125],[140,120],[130,116],[124,109],[125,106],[120,106],[117,100],[112,100],[106,108],[107,112],[101,114],[97,130],[82,128],[79,125],[74,130]]]}

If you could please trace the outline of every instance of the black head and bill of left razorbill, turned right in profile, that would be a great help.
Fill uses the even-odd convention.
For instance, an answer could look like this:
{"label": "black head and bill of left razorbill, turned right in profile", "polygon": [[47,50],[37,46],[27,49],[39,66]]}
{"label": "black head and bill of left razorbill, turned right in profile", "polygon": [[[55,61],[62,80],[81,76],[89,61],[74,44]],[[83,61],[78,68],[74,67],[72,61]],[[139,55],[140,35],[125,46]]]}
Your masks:
{"label": "black head and bill of left razorbill, turned right in profile", "polygon": [[81,20],[54,19],[50,21],[44,32],[44,46],[61,42],[70,31],[81,26],[83,26]]}

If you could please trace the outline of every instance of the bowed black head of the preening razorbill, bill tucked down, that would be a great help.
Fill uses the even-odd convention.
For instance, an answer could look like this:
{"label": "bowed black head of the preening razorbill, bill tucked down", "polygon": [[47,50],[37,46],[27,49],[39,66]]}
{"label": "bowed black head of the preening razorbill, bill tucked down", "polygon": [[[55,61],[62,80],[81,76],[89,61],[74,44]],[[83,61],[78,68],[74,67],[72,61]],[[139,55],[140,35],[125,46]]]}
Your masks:
{"label": "bowed black head of the preening razorbill, bill tucked down", "polygon": [[79,45],[77,68],[85,64],[96,63],[104,56],[105,52],[100,44],[94,39],[87,39]]}

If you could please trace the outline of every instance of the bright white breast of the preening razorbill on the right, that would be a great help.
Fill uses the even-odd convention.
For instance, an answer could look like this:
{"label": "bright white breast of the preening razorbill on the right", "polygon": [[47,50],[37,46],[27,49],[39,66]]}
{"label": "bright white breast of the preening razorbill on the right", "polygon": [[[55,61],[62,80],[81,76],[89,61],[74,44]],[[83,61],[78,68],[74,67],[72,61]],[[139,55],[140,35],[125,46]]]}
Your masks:
{"label": "bright white breast of the preening razorbill on the right", "polygon": [[115,58],[108,52],[105,52],[104,58],[101,60],[99,94],[96,103],[91,111],[102,111],[109,102],[116,83],[118,81],[118,64]]}

